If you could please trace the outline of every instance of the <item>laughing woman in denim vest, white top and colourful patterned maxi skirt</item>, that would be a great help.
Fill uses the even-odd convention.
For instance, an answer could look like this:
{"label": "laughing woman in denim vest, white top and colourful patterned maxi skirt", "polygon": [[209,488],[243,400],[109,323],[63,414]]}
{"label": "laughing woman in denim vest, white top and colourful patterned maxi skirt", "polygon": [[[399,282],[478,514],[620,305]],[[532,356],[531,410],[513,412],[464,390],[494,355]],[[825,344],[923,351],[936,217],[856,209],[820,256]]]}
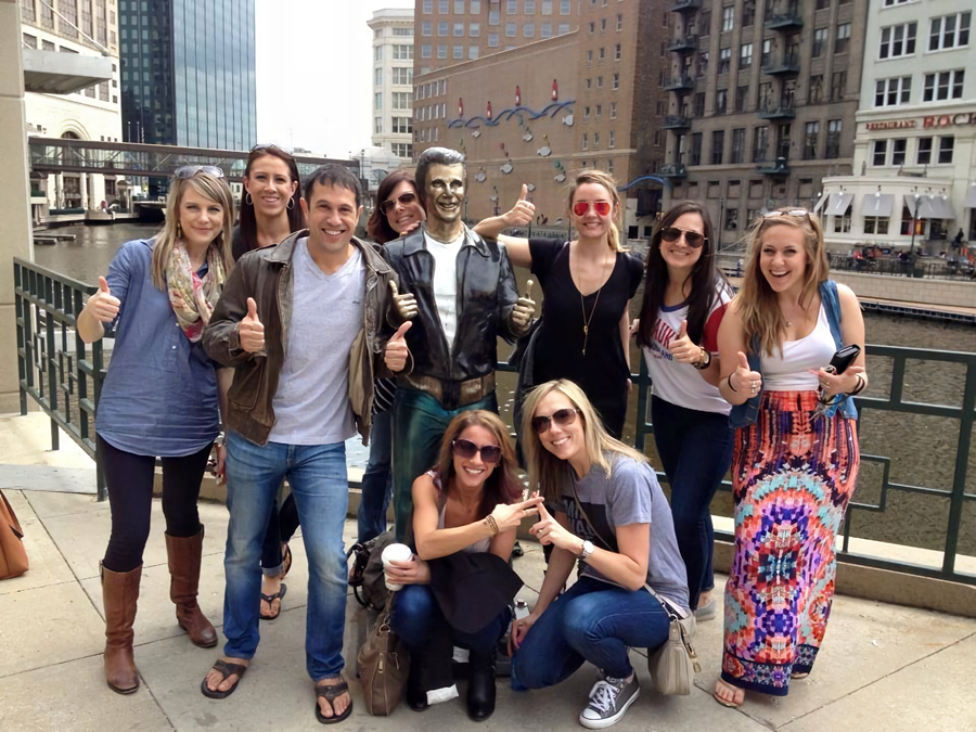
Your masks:
{"label": "laughing woman in denim vest, white top and colourful patterned maxi skirt", "polygon": [[[735,545],[715,698],[785,696],[809,675],[834,594],[834,539],[857,483],[853,395],[868,385],[855,294],[827,280],[823,229],[804,209],[760,218],[742,288],[719,330],[722,397],[733,404]],[[834,354],[857,345],[843,373]]]}

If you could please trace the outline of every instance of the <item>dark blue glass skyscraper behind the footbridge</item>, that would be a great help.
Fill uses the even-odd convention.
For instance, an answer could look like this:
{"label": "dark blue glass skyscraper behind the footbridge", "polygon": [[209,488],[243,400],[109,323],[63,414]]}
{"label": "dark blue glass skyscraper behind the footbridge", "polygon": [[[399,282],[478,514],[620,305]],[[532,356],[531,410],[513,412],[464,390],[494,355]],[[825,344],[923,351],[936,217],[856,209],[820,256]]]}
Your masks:
{"label": "dark blue glass skyscraper behind the footbridge", "polygon": [[255,0],[118,0],[127,142],[257,142]]}

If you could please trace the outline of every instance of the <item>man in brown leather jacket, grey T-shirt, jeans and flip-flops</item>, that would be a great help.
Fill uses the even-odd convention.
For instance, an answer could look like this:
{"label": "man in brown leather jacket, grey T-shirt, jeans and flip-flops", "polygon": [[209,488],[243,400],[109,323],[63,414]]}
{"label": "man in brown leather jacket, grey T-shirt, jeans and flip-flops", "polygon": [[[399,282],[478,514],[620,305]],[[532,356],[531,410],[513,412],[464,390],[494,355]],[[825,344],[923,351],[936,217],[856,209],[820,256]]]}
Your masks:
{"label": "man in brown leather jacket, grey T-shirt, jeans and flip-flops", "polygon": [[388,343],[381,336],[397,278],[352,235],[361,197],[345,167],[312,174],[301,198],[308,230],[241,257],[203,336],[210,358],[235,371],[226,425],[228,642],[201,691],[232,693],[257,650],[261,542],[287,479],[308,554],[306,664],[320,721],[352,708],[342,678],[345,440],[357,431],[369,439],[373,374],[384,361],[402,370],[409,356],[409,324]]}

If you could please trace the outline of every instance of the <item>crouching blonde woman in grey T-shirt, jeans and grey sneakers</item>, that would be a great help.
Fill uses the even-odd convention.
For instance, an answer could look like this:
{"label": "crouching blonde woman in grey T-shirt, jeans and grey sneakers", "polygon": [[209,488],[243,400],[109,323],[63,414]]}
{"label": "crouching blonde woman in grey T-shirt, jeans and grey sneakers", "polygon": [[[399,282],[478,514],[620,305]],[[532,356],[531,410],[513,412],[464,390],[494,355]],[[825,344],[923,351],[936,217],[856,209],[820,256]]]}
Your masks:
{"label": "crouching blonde woman in grey T-shirt, jeans and grey sneakers", "polygon": [[691,614],[671,511],[644,455],[606,434],[576,384],[537,387],[524,421],[529,483],[556,506],[539,508],[531,532],[555,549],[536,607],[512,631],[512,685],[551,686],[588,660],[601,676],[579,723],[602,729],[640,693],[628,646],[653,652],[668,639],[668,614],[645,586]]}

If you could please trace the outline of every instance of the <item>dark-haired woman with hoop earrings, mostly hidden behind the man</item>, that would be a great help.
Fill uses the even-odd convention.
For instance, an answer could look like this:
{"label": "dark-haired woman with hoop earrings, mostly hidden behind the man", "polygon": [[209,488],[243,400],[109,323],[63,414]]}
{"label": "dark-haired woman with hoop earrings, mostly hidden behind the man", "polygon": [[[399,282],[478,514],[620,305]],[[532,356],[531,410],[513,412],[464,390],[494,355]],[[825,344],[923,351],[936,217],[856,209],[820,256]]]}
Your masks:
{"label": "dark-haired woman with hoop earrings, mostly hidden behind the man", "polygon": [[[292,152],[275,144],[251,149],[244,168],[244,196],[233,231],[234,261],[247,252],[273,246],[305,228],[301,214],[298,165]],[[279,509],[275,502],[268,521],[261,552],[261,618],[273,620],[281,614],[287,592],[283,583],[292,566],[288,541],[298,529],[298,510],[291,493]]]}

